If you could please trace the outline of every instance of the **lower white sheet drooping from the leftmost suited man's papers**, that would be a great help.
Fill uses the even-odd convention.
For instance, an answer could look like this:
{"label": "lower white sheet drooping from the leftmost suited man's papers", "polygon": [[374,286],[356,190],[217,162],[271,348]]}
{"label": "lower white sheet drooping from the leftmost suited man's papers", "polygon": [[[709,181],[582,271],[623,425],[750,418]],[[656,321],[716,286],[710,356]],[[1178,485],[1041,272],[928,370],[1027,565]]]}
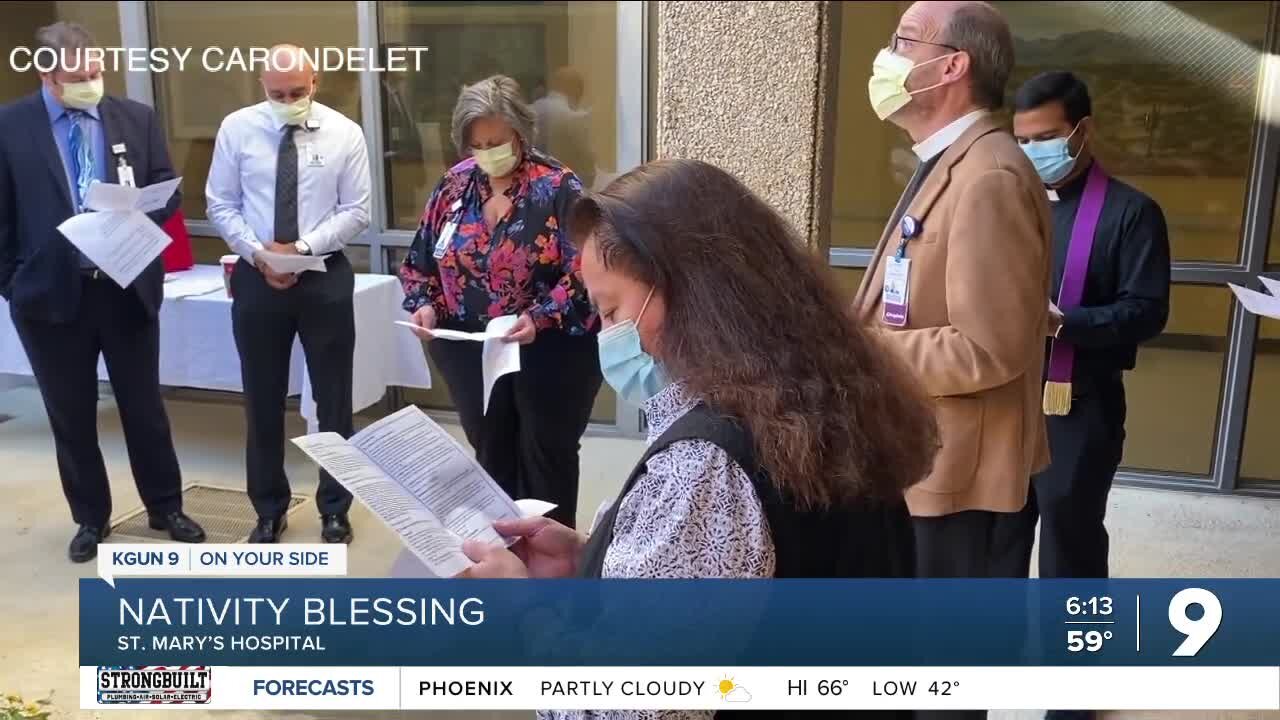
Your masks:
{"label": "lower white sheet drooping from the leftmost suited man's papers", "polygon": [[81,213],[58,231],[120,287],[128,287],[173,242],[137,210]]}

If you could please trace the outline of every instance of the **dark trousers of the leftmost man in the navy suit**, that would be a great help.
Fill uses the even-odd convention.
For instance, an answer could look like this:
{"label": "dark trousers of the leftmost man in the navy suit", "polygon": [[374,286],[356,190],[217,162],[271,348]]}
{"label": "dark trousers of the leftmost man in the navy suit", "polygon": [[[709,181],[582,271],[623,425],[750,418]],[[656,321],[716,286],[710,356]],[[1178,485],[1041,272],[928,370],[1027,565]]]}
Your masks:
{"label": "dark trousers of the leftmost man in the navy suit", "polygon": [[160,323],[138,296],[114,281],[82,277],[79,314],[49,324],[10,311],[35,370],[58,451],[58,473],[72,519],[106,527],[111,491],[97,443],[97,359],[106,361],[129,454],[147,511],[182,510],[182,473],[160,398]]}

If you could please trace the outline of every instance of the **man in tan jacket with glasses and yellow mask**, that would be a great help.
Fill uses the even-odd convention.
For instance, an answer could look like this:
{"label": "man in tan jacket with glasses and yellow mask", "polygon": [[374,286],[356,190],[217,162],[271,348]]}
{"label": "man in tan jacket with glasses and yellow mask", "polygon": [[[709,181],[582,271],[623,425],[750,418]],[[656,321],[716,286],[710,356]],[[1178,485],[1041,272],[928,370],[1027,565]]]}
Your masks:
{"label": "man in tan jacket with glasses and yellow mask", "polygon": [[925,578],[1016,575],[1006,533],[1048,464],[1050,209],[991,114],[1012,67],[1009,26],[989,5],[916,3],[869,83],[877,114],[910,135],[920,159],[854,311],[937,402],[943,447],[908,495]]}

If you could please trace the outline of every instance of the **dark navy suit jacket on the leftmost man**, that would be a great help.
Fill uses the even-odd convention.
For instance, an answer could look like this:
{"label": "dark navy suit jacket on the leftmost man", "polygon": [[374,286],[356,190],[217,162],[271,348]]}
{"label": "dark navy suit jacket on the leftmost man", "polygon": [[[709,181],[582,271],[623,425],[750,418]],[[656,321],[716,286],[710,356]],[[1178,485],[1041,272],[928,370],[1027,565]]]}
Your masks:
{"label": "dark navy suit jacket on the leftmost man", "polygon": [[[164,131],[155,111],[133,100],[99,104],[106,140],[106,182],[119,182],[114,145],[125,145],[138,187],[174,177]],[[157,224],[178,209],[151,213]],[[0,106],[0,296],[14,313],[46,323],[68,323],[79,313],[81,277],[76,247],[58,225],[72,217],[70,188],[40,92]],[[148,316],[164,300],[164,261],[156,258],[133,284]]]}

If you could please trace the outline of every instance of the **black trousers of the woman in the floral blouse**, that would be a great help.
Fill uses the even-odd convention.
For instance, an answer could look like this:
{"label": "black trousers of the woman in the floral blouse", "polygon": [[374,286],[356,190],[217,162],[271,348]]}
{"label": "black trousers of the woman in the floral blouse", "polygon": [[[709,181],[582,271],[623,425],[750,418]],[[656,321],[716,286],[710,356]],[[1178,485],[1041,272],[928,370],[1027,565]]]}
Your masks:
{"label": "black trousers of the woman in the floral blouse", "polygon": [[575,527],[579,450],[603,379],[595,336],[539,332],[520,348],[520,372],[494,383],[488,413],[481,345],[436,340],[428,348],[480,465],[512,498],[554,502],[548,516]]}

